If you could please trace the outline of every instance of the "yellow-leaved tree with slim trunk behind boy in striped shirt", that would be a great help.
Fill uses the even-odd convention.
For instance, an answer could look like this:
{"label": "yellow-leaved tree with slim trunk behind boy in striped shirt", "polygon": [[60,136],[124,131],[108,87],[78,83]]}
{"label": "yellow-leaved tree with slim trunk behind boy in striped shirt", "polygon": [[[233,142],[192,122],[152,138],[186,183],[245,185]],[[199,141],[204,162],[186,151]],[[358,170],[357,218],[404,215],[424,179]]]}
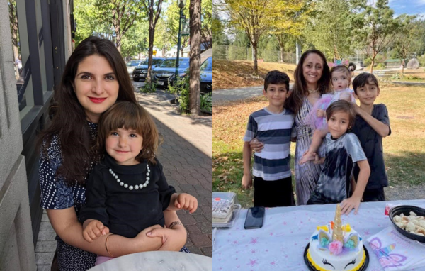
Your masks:
{"label": "yellow-leaved tree with slim trunk behind boy in striped shirt", "polygon": [[283,1],[278,0],[224,0],[229,23],[245,31],[253,49],[254,74],[258,74],[257,46],[263,33],[276,23]]}

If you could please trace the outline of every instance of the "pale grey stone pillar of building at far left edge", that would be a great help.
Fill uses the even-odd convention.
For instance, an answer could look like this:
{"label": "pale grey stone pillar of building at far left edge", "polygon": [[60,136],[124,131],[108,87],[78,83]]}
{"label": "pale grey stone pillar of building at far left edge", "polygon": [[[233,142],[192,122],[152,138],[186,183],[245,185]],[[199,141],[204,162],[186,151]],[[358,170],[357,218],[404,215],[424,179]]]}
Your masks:
{"label": "pale grey stone pillar of building at far left edge", "polygon": [[8,18],[0,0],[0,270],[36,270]]}

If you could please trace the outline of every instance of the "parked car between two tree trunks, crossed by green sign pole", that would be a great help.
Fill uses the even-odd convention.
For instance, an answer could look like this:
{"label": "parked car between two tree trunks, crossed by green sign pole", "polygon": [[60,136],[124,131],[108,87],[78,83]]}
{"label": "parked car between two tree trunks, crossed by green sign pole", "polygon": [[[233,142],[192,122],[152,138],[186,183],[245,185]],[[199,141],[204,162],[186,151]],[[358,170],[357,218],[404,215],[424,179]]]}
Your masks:
{"label": "parked car between two tree trunks, crossed by green sign pole", "polygon": [[[189,57],[179,58],[179,77],[184,77],[189,69]],[[169,84],[174,84],[176,81],[176,57],[167,58],[157,67],[153,72],[154,82],[157,83],[158,87],[168,87]]]}

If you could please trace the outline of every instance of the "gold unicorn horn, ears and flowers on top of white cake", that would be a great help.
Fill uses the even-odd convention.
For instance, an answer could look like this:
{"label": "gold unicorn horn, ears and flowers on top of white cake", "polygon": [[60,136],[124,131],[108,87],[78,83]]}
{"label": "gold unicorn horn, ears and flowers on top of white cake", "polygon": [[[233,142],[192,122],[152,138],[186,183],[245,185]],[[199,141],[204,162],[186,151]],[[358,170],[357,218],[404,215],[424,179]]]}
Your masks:
{"label": "gold unicorn horn, ears and flowers on top of white cake", "polygon": [[332,254],[339,255],[343,250],[358,250],[361,237],[358,236],[358,233],[351,232],[348,224],[342,226],[339,204],[336,205],[333,223],[329,223],[328,226],[320,226],[318,230],[317,236],[313,236],[313,238],[319,239],[320,247],[329,250]]}

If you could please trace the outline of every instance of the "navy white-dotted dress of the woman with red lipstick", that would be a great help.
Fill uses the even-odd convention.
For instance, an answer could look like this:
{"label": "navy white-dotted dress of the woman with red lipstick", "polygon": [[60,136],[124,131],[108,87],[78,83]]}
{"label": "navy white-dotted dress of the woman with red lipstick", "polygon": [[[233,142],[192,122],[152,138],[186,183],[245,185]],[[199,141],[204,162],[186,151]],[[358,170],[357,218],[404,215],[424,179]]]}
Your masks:
{"label": "navy white-dotted dress of the woman with red lipstick", "polygon": [[[88,125],[91,138],[95,139],[97,124],[88,122]],[[64,179],[56,177],[56,171],[62,165],[60,144],[59,136],[53,136],[47,155],[40,153],[40,206],[43,209],[67,209],[74,206],[78,216],[81,206],[86,203],[86,187],[77,182],[68,186]],[[96,254],[68,245],[59,236],[56,236],[56,240],[60,270],[85,271],[94,267]]]}

